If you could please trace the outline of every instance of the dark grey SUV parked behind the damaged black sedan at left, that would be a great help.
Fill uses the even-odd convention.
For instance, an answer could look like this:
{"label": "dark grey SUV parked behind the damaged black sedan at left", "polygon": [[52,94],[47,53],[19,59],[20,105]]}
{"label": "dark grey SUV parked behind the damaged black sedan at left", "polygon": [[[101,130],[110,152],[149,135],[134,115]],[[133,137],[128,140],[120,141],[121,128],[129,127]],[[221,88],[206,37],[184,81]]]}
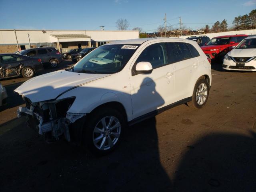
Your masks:
{"label": "dark grey SUV parked behind the damaged black sedan at left", "polygon": [[58,64],[62,62],[60,52],[52,47],[26,49],[18,54],[32,58],[40,58],[44,67],[50,65],[52,68],[56,68]]}

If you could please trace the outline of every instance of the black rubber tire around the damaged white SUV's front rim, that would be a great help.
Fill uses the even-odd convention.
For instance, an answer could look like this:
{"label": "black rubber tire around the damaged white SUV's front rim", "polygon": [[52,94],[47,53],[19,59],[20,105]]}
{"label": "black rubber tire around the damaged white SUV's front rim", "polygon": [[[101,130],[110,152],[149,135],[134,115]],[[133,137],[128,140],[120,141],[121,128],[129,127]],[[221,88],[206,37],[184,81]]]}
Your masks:
{"label": "black rubber tire around the damaged white SUV's front rim", "polygon": [[[115,140],[116,136],[118,135],[118,134],[116,134],[116,131],[118,132],[119,128],[113,129],[112,130],[113,132],[111,132],[111,130],[106,130],[108,133],[94,132],[94,130],[96,130],[95,129],[96,126],[100,130],[104,130],[101,120],[105,118],[104,122],[106,122],[106,125],[108,125],[108,123],[109,123],[108,120],[110,120],[110,116],[115,117],[120,123],[120,134],[119,134],[119,137],[117,140]],[[116,124],[116,119],[113,120],[113,123],[111,125]],[[111,125],[110,125],[110,127],[111,127]],[[87,118],[87,121],[84,126],[83,144],[87,147],[87,149],[90,152],[92,152],[96,156],[104,156],[106,154],[109,154],[120,143],[121,131],[122,131],[122,128],[124,128],[124,127],[125,127],[124,117],[118,110],[113,109],[113,108],[107,108],[107,107],[100,108],[100,109],[92,112],[92,114],[90,114],[89,117]],[[107,128],[107,126],[106,126],[106,128]],[[94,144],[94,140],[99,137],[101,137],[102,140],[99,140],[96,144]],[[108,139],[111,139],[111,140],[113,139],[114,142],[112,142],[112,144],[113,144],[112,147],[110,147],[109,143],[104,144],[104,146],[102,148],[103,150],[101,150],[100,146],[101,146],[102,142],[104,142],[103,141],[104,138],[105,138],[106,142],[108,142]],[[108,147],[110,147],[110,148],[108,148]]]}

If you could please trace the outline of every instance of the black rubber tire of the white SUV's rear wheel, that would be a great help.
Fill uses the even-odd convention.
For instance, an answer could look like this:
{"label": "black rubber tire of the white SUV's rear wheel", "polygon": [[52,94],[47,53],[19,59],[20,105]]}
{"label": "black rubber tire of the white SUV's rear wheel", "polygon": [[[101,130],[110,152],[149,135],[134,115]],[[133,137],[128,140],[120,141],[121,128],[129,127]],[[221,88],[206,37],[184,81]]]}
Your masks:
{"label": "black rubber tire of the white SUV's rear wheel", "polygon": [[[198,93],[198,92],[200,92],[200,86],[202,86],[202,84],[204,84],[203,92]],[[205,90],[205,86],[206,86],[207,90]],[[207,91],[207,94],[205,94],[206,91]],[[201,100],[199,98],[200,96],[201,96]],[[195,84],[193,95],[192,95],[192,100],[190,102],[188,102],[187,104],[188,104],[188,106],[190,106],[192,108],[200,109],[206,104],[208,97],[209,97],[209,83],[206,79],[200,78],[197,80],[197,82]],[[199,98],[199,99],[197,99],[197,98]],[[205,100],[204,100],[204,98],[205,98]],[[204,100],[204,102],[202,102],[202,100]],[[201,102],[202,102],[202,104],[201,104]]]}

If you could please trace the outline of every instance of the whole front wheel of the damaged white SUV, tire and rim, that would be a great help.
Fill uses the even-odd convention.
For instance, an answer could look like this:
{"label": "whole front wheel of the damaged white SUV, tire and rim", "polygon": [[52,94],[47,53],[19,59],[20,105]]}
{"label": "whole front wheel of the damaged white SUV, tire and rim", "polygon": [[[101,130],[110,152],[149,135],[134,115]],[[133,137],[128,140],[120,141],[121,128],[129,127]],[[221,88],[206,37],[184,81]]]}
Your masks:
{"label": "whole front wheel of the damaged white SUV, tire and rim", "polygon": [[84,132],[88,150],[99,156],[112,152],[120,142],[124,124],[124,117],[112,108],[101,108],[90,114]]}

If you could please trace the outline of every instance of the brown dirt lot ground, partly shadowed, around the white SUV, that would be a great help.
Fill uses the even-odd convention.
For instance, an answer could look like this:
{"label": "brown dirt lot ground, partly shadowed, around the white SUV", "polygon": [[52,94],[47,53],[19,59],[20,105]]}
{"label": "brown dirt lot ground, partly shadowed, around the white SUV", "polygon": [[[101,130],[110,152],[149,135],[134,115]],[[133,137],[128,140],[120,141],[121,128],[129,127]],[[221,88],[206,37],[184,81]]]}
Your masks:
{"label": "brown dirt lot ground, partly shadowed, around the white SUV", "polygon": [[129,127],[100,158],[65,141],[46,144],[16,118],[23,101],[13,90],[27,79],[1,80],[9,98],[0,110],[0,191],[255,192],[256,73],[220,66],[212,64],[204,108],[180,105]]}

